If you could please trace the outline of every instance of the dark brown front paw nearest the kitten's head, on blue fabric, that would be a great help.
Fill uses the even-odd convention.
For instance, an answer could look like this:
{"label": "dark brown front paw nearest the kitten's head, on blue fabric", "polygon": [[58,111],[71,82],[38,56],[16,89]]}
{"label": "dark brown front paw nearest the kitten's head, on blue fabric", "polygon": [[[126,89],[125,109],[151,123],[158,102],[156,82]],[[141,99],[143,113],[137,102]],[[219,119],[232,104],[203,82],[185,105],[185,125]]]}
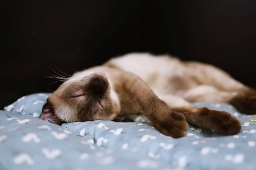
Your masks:
{"label": "dark brown front paw nearest the kitten's head, on blue fabric", "polygon": [[153,125],[164,135],[171,136],[173,138],[185,136],[189,127],[185,116],[174,111],[163,115],[163,117],[158,119],[158,121],[153,123]]}

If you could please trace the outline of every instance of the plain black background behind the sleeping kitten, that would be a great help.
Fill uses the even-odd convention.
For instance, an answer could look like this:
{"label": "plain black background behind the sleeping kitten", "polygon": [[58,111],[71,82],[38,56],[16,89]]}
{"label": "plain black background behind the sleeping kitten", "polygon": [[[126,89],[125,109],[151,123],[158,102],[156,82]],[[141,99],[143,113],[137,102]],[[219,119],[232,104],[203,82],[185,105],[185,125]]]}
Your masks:
{"label": "plain black background behind the sleeping kitten", "polygon": [[[256,0],[3,0],[0,109],[131,51],[216,65],[256,85]],[[58,82],[48,88],[55,90]]]}

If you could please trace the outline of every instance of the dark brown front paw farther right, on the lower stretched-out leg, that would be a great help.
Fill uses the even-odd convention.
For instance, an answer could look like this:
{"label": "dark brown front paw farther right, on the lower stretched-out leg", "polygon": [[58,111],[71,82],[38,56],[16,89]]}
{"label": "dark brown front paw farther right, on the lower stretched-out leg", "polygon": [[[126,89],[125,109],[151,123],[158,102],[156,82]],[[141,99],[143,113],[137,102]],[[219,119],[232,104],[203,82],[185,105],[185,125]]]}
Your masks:
{"label": "dark brown front paw farther right, on the lower stretched-out leg", "polygon": [[234,135],[241,131],[241,124],[236,117],[231,116],[225,111],[209,110],[209,119],[212,122],[212,127],[219,133],[225,135]]}

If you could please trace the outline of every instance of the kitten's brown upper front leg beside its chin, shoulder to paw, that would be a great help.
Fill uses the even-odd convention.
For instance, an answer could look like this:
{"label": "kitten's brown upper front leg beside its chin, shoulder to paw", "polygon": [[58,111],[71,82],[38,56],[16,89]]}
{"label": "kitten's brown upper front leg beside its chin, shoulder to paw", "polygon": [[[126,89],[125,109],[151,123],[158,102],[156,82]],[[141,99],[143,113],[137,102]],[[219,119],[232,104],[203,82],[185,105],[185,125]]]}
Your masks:
{"label": "kitten's brown upper front leg beside its chin, shoulder to paw", "polygon": [[185,116],[175,111],[159,99],[151,88],[136,75],[122,72],[116,76],[115,88],[119,95],[138,108],[137,112],[145,115],[161,133],[179,138],[185,136],[188,123]]}

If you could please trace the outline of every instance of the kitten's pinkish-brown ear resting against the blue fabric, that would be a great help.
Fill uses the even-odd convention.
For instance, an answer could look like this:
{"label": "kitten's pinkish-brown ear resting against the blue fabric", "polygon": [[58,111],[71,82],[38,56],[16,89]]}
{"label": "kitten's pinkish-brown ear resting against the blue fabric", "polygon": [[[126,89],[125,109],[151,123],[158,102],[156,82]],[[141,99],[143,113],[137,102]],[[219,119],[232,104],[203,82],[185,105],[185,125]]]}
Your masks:
{"label": "kitten's pinkish-brown ear resting against the blue fabric", "polygon": [[54,113],[53,107],[51,104],[49,104],[49,102],[44,104],[42,108],[42,113],[39,119],[42,119],[46,122],[50,122],[56,125],[62,125],[64,123],[64,121],[62,121],[60,118],[58,118],[58,116],[56,116],[56,114]]}

